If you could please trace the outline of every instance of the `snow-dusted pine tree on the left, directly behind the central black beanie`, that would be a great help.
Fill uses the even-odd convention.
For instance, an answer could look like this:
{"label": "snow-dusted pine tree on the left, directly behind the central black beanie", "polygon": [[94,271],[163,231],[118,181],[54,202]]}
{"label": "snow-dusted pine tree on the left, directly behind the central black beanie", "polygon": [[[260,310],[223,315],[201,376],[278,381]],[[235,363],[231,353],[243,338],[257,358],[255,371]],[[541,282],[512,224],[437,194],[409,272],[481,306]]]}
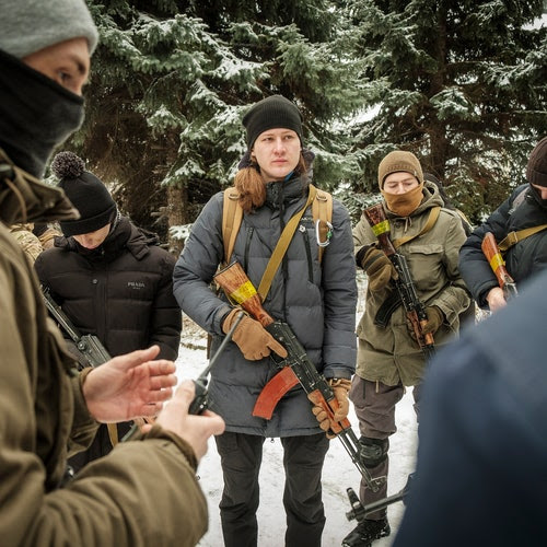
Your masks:
{"label": "snow-dusted pine tree on the left, directly behind the central black beanie", "polygon": [[315,175],[334,182],[341,156],[329,125],[360,97],[327,0],[89,4],[101,43],[70,146],[137,223],[165,233],[191,222],[235,173],[245,108],[272,93],[299,104],[307,142],[324,152]]}

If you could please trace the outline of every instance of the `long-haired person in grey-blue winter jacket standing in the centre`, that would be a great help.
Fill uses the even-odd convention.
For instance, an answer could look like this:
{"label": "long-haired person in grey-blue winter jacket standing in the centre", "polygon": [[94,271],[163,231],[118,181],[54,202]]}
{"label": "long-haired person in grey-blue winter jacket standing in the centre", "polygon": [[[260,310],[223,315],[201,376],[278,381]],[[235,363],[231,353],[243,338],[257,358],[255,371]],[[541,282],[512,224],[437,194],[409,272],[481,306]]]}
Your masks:
{"label": "long-haired person in grey-blue winter jacket standing in the centre", "polygon": [[[302,120],[296,106],[274,95],[245,115],[248,152],[236,175],[243,209],[232,259],[259,286],[281,231],[303,207],[310,191],[311,156],[302,152]],[[306,160],[307,158],[307,160]],[[212,351],[222,341],[237,310],[210,283],[223,261],[219,193],[198,217],[175,266],[175,296],[181,307],[212,335]],[[351,224],[347,210],[334,202],[333,235],[319,263],[312,208],[307,207],[274,277],[264,307],[289,324],[309,357],[335,392],[347,415],[347,389],[354,371],[357,303]],[[278,371],[268,358],[284,348],[251,317],[211,371],[211,408],[226,422],[218,438],[224,473],[220,503],[226,546],[256,546],[258,473],[267,437],[279,437],[284,450],[286,545],[319,546],[325,514],[321,474],[328,441],[299,386],[278,403],[270,420],[253,416],[260,391]],[[341,419],[341,417],[340,417]]]}

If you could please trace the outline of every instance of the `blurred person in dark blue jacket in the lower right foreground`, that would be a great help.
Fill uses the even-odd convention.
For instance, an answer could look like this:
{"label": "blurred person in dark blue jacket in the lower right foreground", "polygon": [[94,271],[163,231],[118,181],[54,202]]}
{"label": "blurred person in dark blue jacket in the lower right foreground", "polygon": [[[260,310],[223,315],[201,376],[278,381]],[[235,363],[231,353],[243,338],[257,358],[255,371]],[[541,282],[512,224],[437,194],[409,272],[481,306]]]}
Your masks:
{"label": "blurred person in dark blue jacket in the lower right foreground", "polygon": [[547,545],[546,283],[524,283],[431,362],[394,547]]}

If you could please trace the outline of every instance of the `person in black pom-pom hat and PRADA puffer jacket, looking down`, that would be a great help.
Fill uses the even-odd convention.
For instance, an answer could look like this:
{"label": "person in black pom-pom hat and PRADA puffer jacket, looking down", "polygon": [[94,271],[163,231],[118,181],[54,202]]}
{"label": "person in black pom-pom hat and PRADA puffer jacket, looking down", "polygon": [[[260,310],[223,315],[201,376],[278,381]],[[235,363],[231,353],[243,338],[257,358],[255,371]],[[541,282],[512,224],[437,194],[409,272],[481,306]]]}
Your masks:
{"label": "person in black pom-pom hat and PRADA puffer jacket, looking down", "polygon": [[[175,258],[158,245],[154,234],[121,217],[106,186],[84,167],[72,152],[60,152],[51,163],[59,187],[81,217],[60,222],[63,237],[36,260],[40,283],[74,326],[95,335],[112,357],[156,344],[159,358],[174,361],[182,329],[172,287]],[[68,347],[84,365],[75,347]],[[117,437],[129,427],[118,424]],[[110,452],[112,442],[106,426],[101,426],[90,449],[73,456],[70,465],[79,470]]]}

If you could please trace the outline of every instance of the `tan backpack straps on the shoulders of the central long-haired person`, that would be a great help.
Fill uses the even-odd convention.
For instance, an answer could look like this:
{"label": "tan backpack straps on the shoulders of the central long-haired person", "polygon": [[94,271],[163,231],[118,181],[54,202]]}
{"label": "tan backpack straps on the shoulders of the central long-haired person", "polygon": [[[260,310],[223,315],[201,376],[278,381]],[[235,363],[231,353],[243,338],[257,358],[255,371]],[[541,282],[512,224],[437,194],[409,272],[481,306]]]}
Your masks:
{"label": "tan backpack straps on the shoulders of the central long-haired person", "polygon": [[[310,191],[315,191],[315,197],[312,201],[312,217],[317,233],[321,264],[325,247],[333,236],[333,196],[328,191],[315,188],[312,184],[310,185]],[[224,190],[222,241],[224,242],[224,264],[226,266],[232,256],[235,237],[243,220],[243,209],[240,206],[238,199],[240,193],[234,187]]]}

